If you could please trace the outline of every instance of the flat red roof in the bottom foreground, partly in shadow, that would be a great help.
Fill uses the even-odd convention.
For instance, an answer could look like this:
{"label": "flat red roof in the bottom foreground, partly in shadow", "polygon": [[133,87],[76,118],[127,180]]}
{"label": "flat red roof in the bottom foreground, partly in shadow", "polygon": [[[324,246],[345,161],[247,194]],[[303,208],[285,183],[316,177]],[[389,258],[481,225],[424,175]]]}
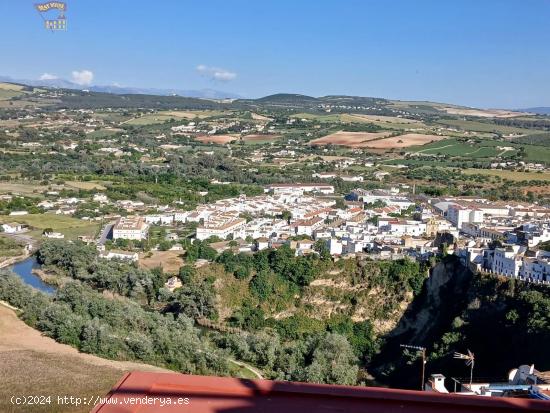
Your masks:
{"label": "flat red roof in the bottom foreground, partly in shadow", "polygon": [[548,402],[528,399],[131,372],[92,413],[512,413],[549,409]]}

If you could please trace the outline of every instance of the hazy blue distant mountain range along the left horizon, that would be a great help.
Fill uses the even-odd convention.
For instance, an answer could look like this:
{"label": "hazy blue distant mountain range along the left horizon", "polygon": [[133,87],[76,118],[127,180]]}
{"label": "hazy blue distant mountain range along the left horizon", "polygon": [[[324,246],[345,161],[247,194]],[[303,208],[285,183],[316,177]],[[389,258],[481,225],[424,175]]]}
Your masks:
{"label": "hazy blue distant mountain range along the left horizon", "polygon": [[215,89],[198,89],[198,90],[185,90],[185,89],[156,89],[156,88],[138,88],[138,87],[125,87],[118,85],[90,85],[82,86],[71,82],[66,79],[47,79],[47,80],[33,80],[33,79],[15,79],[9,76],[0,76],[0,82],[21,83],[29,86],[46,86],[62,89],[77,89],[77,90],[89,90],[91,92],[103,92],[113,93],[116,95],[158,95],[158,96],[186,96],[202,99],[238,99],[241,96],[236,93],[224,92]]}

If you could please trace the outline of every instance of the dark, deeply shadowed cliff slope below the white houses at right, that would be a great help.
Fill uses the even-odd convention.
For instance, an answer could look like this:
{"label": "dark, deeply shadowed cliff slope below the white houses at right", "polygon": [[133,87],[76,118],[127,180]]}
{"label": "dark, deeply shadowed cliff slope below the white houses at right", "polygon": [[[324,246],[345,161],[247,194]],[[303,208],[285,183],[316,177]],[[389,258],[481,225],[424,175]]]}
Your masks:
{"label": "dark, deeply shadowed cliff slope below the white houses at right", "polygon": [[417,388],[421,364],[400,344],[424,346],[426,374],[467,374],[455,351],[476,355],[474,375],[502,377],[520,364],[550,369],[550,288],[473,274],[454,256],[431,271],[422,293],[387,336],[369,371],[395,387]]}

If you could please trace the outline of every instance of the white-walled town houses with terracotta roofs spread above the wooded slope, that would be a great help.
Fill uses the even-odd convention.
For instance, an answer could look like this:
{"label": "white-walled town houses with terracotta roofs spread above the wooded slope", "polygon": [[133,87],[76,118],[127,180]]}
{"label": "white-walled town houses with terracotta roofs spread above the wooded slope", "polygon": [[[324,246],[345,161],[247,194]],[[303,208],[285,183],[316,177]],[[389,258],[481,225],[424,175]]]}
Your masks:
{"label": "white-walled town houses with terracotta roofs spread above the wooded slope", "polygon": [[[550,241],[550,209],[481,197],[429,199],[403,195],[398,188],[356,189],[345,197],[345,206],[338,208],[334,192],[325,183],[272,184],[261,196],[223,199],[193,211],[155,207],[157,212],[152,214],[144,213],[152,207],[141,201],[117,201],[131,215],[118,218],[112,237],[143,240],[151,224],[196,223],[198,240],[240,239],[247,244],[254,240],[257,250],[287,242],[296,254],[311,253],[314,241],[325,240],[335,256],[368,253],[383,258],[426,258],[445,240],[448,246],[454,244],[461,259],[479,270],[550,281],[550,253],[537,248]],[[110,202],[103,194],[93,200]],[[80,202],[62,199],[41,206],[69,207]],[[22,229],[17,222],[2,224],[6,233]],[[310,240],[291,241],[302,235]]]}

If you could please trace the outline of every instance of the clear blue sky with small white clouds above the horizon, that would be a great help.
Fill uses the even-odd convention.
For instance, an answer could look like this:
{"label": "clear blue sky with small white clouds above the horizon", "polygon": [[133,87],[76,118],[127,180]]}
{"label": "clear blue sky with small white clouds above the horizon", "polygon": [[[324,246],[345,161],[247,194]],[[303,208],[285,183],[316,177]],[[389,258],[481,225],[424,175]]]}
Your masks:
{"label": "clear blue sky with small white clouds above the horizon", "polygon": [[[38,1],[38,0],[37,0]],[[0,75],[550,106],[550,0],[0,0]]]}

